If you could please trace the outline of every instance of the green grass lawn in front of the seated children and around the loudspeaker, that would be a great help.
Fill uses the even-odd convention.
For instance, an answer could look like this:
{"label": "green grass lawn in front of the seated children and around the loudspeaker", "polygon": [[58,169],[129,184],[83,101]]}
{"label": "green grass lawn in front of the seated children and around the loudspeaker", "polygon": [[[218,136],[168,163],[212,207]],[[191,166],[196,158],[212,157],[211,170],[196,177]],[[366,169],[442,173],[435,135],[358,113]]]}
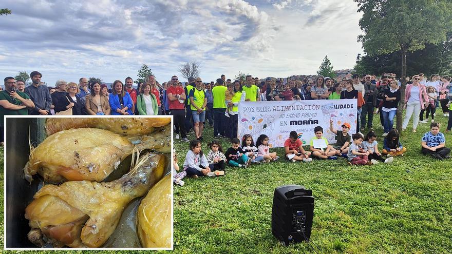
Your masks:
{"label": "green grass lawn in front of the seated children and around the loudspeaker", "polygon": [[[437,121],[444,131],[447,119],[441,115]],[[374,126],[380,126],[378,116]],[[306,243],[281,246],[271,233],[273,192],[285,184],[312,189],[311,241],[320,253],[452,252],[452,160],[420,154],[420,139],[428,130],[429,124],[420,124],[417,133],[402,133],[408,151],[389,165],[348,166],[345,159],[310,164],[279,160],[247,170],[227,167],[224,177],[186,178],[183,187],[174,187],[175,252],[309,252]],[[382,133],[376,129],[380,149]],[[209,152],[206,143],[212,137],[208,127],[203,152]],[[227,139],[220,141],[224,149],[230,146]],[[448,147],[451,141],[447,133]],[[175,141],[174,147],[182,167],[189,146]],[[284,148],[274,151],[284,158]]]}

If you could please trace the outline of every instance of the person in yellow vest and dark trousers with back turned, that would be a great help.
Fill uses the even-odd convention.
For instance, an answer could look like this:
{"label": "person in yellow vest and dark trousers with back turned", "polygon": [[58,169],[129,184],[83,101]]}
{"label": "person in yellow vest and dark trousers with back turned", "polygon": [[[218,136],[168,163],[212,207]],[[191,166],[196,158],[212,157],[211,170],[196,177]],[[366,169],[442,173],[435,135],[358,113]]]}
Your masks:
{"label": "person in yellow vest and dark trousers with back turned", "polygon": [[[231,83],[231,80],[228,79]],[[227,81],[227,82],[228,82]],[[214,115],[214,138],[217,136],[224,136],[225,130],[225,115],[226,112],[226,103],[224,102],[226,99],[225,91],[228,89],[224,86],[224,84],[218,80],[218,85],[212,88],[212,96],[213,96],[213,115]]]}

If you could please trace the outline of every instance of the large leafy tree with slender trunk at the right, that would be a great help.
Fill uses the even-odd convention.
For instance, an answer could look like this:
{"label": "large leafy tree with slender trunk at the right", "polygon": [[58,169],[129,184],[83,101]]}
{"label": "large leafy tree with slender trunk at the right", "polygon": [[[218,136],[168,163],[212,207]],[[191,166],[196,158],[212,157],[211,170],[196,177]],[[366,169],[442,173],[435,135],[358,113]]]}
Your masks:
{"label": "large leafy tree with slender trunk at the right", "polygon": [[[406,76],[406,52],[423,49],[427,43],[437,45],[446,40],[452,26],[449,0],[354,0],[358,12],[363,12],[358,36],[364,52],[369,55],[400,51],[401,75]],[[401,97],[405,96],[406,81],[402,79]],[[397,108],[397,129],[402,130],[402,111]]]}

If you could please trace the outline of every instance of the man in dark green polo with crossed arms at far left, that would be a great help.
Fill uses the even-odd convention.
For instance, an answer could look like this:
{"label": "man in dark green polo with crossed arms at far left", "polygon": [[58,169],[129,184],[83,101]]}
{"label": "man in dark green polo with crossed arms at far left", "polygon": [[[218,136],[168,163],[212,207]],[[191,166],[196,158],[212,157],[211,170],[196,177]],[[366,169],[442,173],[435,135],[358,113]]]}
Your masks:
{"label": "man in dark green polo with crossed arms at far left", "polygon": [[5,77],[5,90],[0,92],[0,145],[4,144],[4,115],[26,115],[28,108],[34,108],[34,103],[28,94],[17,90],[14,77]]}

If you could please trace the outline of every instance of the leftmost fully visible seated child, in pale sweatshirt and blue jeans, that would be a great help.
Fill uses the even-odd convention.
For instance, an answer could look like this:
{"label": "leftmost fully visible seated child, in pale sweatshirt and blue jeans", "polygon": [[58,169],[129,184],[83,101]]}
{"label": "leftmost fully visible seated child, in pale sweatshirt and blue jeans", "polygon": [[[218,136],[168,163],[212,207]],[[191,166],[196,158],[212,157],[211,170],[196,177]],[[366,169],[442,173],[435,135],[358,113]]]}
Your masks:
{"label": "leftmost fully visible seated child, in pale sweatshirt and blue jeans", "polygon": [[192,178],[203,177],[204,175],[209,177],[224,175],[224,171],[212,171],[214,169],[214,165],[209,165],[209,162],[201,150],[201,141],[199,140],[190,141],[190,150],[185,156],[183,168],[187,172],[187,175]]}

